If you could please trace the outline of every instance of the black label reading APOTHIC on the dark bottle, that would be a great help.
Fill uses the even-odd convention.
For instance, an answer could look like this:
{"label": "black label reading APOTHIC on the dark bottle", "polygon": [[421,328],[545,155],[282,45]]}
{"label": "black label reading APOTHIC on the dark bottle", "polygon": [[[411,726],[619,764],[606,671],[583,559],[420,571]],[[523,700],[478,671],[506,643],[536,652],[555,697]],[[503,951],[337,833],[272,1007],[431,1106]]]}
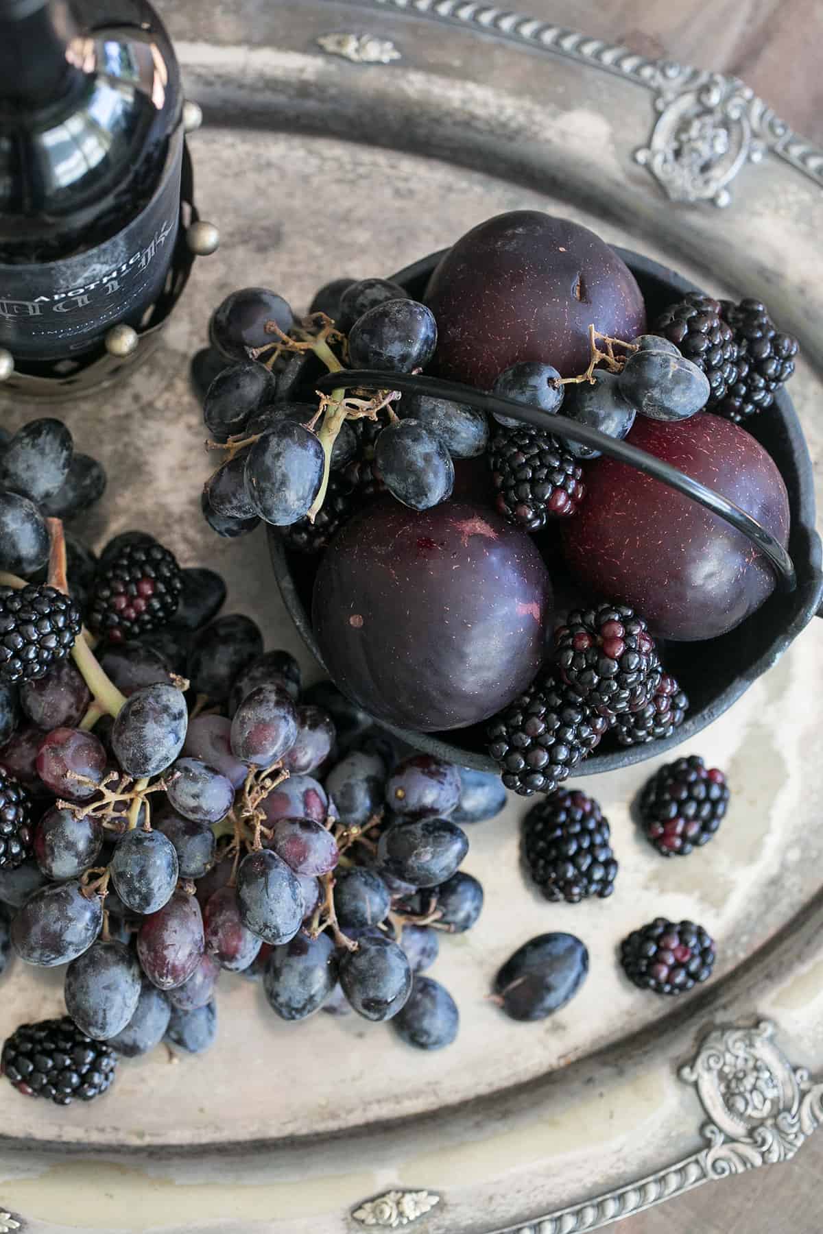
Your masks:
{"label": "black label reading APOTHIC on the dark bottle", "polygon": [[179,126],[152,200],[116,236],[59,262],[0,264],[0,347],[48,360],[93,349],[120,322],[141,325],[172,263],[181,164]]}

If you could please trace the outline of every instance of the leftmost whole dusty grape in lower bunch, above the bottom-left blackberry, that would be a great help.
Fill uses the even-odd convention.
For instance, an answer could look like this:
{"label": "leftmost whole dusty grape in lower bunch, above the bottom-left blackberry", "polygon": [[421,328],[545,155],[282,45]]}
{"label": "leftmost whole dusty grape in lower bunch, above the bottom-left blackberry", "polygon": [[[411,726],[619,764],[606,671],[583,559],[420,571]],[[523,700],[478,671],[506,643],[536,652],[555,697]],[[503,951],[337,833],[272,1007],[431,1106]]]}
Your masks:
{"label": "leftmost whole dusty grape in lower bunch, above the bottom-left blackberry", "polygon": [[11,923],[11,942],[26,964],[51,969],[88,951],[102,926],[100,896],[84,895],[78,880],[36,891]]}

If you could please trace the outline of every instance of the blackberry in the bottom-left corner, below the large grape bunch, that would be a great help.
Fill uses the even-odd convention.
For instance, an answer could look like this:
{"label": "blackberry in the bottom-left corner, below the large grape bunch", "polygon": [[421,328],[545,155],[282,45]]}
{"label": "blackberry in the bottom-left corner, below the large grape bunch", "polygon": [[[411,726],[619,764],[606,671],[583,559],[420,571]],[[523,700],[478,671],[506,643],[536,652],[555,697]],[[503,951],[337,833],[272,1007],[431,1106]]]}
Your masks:
{"label": "blackberry in the bottom-left corner, below the large grape bunch", "polygon": [[73,1019],[22,1024],[2,1046],[0,1071],[26,1097],[47,1097],[57,1106],[94,1101],[109,1088],[117,1055],[105,1041],[81,1033]]}

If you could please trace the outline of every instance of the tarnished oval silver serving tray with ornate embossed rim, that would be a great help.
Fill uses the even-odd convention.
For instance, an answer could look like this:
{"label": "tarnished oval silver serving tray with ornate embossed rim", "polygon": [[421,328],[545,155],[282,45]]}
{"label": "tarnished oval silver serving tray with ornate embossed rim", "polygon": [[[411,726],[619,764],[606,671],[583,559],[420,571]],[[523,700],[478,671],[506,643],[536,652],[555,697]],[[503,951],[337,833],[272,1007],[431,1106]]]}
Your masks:
{"label": "tarnished oval silver serving tray with ornate embossed rim", "polygon": [[[305,305],[327,278],[399,269],[522,206],[763,295],[801,338],[792,394],[819,459],[823,153],[739,81],[458,0],[163,7],[206,114],[192,154],[223,247],[151,364],[65,408],[110,469],[95,540],[137,523],[185,564],[212,563],[230,608],[299,653],[264,537],[218,542],[197,515],[209,458],[186,365],[209,308],[244,283]],[[16,426],[32,408],[0,415]],[[693,753],[728,769],[734,803],[689,860],[658,859],[629,818],[658,763],[587,780],[622,865],[607,902],[526,891],[523,802],[473,829],[466,865],[487,907],[436,967],[460,1003],[457,1046],[420,1055],[355,1017],[289,1027],[227,980],[207,1059],[158,1050],[89,1108],[0,1085],[0,1232],[576,1234],[791,1157],[823,1120],[809,1079],[823,1075],[822,629],[701,734]],[[712,981],[672,1003],[616,964],[619,939],[658,913],[719,943]],[[490,980],[549,929],[585,939],[591,975],[566,1011],[513,1024],[485,998]],[[57,1013],[60,983],[16,964],[0,1032]]]}

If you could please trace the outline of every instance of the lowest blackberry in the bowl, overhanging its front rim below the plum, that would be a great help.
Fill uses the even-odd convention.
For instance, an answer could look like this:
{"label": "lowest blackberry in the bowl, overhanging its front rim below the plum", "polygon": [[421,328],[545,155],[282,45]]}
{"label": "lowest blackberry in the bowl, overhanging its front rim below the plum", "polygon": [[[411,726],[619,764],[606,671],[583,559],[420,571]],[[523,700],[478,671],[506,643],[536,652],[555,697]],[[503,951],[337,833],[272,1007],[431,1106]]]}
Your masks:
{"label": "lowest blackberry in the bowl, overhanging its front rim below the plum", "polygon": [[554,792],[607,727],[569,686],[545,675],[490,722],[489,753],[507,789],[522,797]]}

